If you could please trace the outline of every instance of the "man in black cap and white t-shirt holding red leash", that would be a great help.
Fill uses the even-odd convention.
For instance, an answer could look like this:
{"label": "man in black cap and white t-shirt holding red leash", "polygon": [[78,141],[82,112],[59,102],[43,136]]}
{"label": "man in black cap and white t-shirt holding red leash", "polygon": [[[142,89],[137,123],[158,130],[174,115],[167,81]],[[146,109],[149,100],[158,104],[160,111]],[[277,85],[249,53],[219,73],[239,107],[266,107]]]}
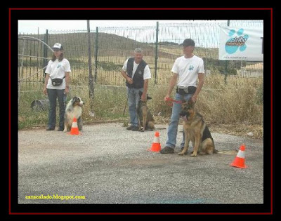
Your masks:
{"label": "man in black cap and white t-shirt holding red leash", "polygon": [[[171,92],[177,83],[176,97],[174,102],[171,120],[168,128],[168,140],[166,141],[166,147],[164,147],[161,154],[173,154],[176,147],[176,135],[178,133],[178,121],[179,114],[181,112],[181,100],[192,100],[196,102],[197,96],[201,91],[204,83],[204,62],[202,58],[193,54],[195,48],[195,42],[192,39],[185,39],[183,43],[183,56],[177,58],[174,62],[174,66],[171,69],[173,76],[169,82],[169,89],[164,100],[169,100]],[[196,85],[198,76],[198,85]],[[183,141],[181,142],[181,148],[185,143],[185,134],[183,133]]]}

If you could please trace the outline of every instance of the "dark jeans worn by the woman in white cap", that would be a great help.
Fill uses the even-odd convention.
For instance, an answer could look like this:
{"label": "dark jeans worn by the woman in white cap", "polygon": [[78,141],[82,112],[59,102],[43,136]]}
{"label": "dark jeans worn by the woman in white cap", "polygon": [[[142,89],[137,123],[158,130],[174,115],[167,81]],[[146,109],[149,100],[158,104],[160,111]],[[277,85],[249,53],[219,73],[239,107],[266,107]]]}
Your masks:
{"label": "dark jeans worn by the woman in white cap", "polygon": [[64,128],[64,118],[65,118],[65,89],[48,89],[48,100],[50,100],[50,107],[48,109],[48,127],[55,128],[55,121],[56,121],[56,106],[57,106],[57,98],[58,98],[58,105],[60,107],[60,123],[59,128]]}

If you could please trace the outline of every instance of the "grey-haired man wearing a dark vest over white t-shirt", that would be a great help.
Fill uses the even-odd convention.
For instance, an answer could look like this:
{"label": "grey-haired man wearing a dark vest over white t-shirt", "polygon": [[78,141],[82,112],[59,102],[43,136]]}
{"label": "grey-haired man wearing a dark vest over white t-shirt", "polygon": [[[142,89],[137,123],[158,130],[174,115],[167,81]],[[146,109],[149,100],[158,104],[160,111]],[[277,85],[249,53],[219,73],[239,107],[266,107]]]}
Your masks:
{"label": "grey-haired man wearing a dark vest over white t-shirt", "polygon": [[[148,80],[151,79],[150,68],[143,60],[143,50],[136,48],[133,58],[129,58],[124,62],[121,70],[122,76],[126,79],[126,86],[129,101],[129,114],[131,126],[127,130],[138,130],[138,114],[136,108],[138,100],[146,101],[148,93]],[[139,91],[143,92],[140,98]]]}

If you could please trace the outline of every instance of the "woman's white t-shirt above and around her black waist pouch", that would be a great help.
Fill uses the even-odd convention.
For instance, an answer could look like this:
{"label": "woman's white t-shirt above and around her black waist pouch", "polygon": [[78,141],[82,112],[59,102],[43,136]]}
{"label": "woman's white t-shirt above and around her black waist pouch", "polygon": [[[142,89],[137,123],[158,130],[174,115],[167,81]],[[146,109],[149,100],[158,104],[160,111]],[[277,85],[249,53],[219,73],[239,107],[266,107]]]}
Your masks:
{"label": "woman's white t-shirt above and around her black waist pouch", "polygon": [[62,79],[65,76],[65,72],[71,72],[70,62],[63,58],[62,61],[49,60],[48,66],[46,68],[45,73],[50,74],[50,78],[48,79],[47,88],[48,89],[65,89],[65,78],[63,79],[63,83],[59,86],[53,86],[51,79]]}

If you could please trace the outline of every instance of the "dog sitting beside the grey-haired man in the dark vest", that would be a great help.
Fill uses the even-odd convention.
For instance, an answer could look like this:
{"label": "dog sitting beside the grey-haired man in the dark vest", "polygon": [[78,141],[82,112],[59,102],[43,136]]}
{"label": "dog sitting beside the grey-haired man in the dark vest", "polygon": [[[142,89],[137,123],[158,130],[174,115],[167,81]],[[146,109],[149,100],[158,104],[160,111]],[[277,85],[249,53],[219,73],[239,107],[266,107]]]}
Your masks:
{"label": "dog sitting beside the grey-haired man in the dark vest", "polygon": [[[148,109],[148,105],[146,105],[146,101],[143,102],[141,100],[141,95],[143,95],[142,91],[138,93],[140,95],[140,100],[138,101],[138,107],[136,112],[138,114],[138,130],[144,132],[145,129],[153,130],[154,127],[154,119],[150,110]],[[147,96],[147,100],[151,100],[149,96]]]}

